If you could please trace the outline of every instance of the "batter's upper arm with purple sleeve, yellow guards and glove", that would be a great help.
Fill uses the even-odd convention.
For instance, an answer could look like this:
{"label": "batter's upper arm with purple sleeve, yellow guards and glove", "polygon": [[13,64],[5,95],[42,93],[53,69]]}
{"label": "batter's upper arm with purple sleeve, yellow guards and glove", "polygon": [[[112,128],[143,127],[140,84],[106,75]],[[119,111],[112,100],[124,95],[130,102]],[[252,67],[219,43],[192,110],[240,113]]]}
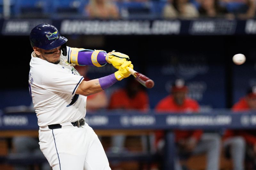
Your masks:
{"label": "batter's upper arm with purple sleeve, yellow guards and glove", "polygon": [[90,50],[84,48],[68,47],[68,63],[75,65],[91,65],[102,67],[107,63],[111,63],[116,69],[129,59],[128,55],[112,51],[106,53],[104,50]]}

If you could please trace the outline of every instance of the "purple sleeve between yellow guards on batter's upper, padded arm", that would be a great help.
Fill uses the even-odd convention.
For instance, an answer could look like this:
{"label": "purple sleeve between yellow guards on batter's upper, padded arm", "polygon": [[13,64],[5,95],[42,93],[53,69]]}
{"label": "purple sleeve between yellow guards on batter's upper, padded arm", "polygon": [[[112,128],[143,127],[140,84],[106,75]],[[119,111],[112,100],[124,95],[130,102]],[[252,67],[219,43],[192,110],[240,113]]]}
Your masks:
{"label": "purple sleeve between yellow guards on batter's upper, padded arm", "polygon": [[[80,51],[78,52],[78,56],[77,56],[77,62],[79,65],[91,65],[94,66],[92,64],[92,52],[93,51]],[[107,53],[104,52],[100,52],[97,56],[97,61],[100,65],[107,63],[106,61],[106,55]]]}

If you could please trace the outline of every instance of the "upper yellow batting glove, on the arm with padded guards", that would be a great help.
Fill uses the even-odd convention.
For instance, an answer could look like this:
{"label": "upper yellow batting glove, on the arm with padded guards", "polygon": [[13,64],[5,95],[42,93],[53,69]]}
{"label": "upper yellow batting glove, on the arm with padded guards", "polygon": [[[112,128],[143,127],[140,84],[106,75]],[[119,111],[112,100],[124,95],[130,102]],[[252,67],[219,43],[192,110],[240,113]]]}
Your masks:
{"label": "upper yellow batting glove, on the arm with padded guards", "polygon": [[106,55],[106,61],[112,64],[116,69],[119,69],[119,67],[128,59],[129,59],[128,55],[115,52],[115,50],[113,50],[112,52]]}

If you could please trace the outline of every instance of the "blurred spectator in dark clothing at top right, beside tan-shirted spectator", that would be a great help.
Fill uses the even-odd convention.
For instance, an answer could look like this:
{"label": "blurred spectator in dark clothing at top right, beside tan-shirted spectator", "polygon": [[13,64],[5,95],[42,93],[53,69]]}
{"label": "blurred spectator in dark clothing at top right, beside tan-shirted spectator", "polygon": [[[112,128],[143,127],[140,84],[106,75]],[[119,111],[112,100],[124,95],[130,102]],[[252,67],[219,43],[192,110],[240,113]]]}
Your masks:
{"label": "blurred spectator in dark clothing at top right, beside tan-shirted spectator", "polygon": [[228,12],[225,6],[221,6],[219,0],[199,0],[200,7],[198,9],[200,17],[207,18],[235,18]]}

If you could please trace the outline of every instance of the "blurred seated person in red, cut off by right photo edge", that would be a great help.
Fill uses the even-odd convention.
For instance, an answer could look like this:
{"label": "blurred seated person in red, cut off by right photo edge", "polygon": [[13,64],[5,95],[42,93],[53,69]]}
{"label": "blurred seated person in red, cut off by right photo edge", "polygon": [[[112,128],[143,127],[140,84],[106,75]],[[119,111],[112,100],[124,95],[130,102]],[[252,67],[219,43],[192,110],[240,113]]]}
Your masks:
{"label": "blurred seated person in red, cut off by right photo edge", "polygon": [[[241,112],[241,113],[256,111],[256,86],[253,86],[252,88],[248,89],[247,94],[234,104],[234,106],[232,107],[232,111]],[[249,155],[250,159],[253,160],[252,164],[254,164],[253,165],[254,167],[250,167],[250,169],[255,169],[256,168],[256,162],[255,162],[256,161],[256,130],[255,129],[226,130],[224,139],[228,140],[232,137],[233,138],[243,138],[243,140],[245,140],[247,148],[249,148],[248,155]],[[225,144],[225,142],[226,141],[224,141],[224,144]],[[240,147],[240,148],[242,148],[242,147]],[[233,155],[237,157],[241,154],[245,154],[245,152],[246,152],[245,146],[242,149],[240,149],[241,153],[238,154],[239,149],[234,148],[234,150],[236,150],[236,153],[232,153],[232,151],[231,151],[231,157]],[[233,152],[235,152],[235,151],[233,151]],[[240,158],[240,159],[242,159],[242,158]],[[236,159],[234,161],[241,162],[241,161],[239,161],[239,159]],[[234,163],[234,165],[236,165],[236,164]]]}

